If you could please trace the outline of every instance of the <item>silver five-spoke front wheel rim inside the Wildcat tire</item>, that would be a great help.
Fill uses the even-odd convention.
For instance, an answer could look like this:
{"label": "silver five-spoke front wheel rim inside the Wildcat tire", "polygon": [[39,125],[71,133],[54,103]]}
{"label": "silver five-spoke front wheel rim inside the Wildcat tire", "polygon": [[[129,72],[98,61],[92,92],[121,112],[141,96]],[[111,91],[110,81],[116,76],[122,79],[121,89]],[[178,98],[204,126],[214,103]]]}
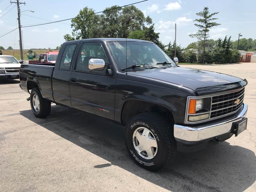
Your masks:
{"label": "silver five-spoke front wheel rim inside the Wildcat tire", "polygon": [[132,142],[137,153],[144,159],[153,159],[156,156],[156,138],[146,127],[138,127],[133,132]]}

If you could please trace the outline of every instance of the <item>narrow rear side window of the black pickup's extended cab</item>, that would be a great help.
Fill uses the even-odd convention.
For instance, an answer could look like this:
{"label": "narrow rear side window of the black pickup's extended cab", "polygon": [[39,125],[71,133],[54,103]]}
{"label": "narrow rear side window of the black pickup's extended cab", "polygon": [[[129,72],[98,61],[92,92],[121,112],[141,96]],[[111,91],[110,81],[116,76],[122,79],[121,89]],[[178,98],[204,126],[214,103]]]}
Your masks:
{"label": "narrow rear side window of the black pickup's extended cab", "polygon": [[61,70],[70,70],[72,57],[74,55],[76,49],[76,44],[70,44],[65,47],[63,55],[60,61],[60,69]]}

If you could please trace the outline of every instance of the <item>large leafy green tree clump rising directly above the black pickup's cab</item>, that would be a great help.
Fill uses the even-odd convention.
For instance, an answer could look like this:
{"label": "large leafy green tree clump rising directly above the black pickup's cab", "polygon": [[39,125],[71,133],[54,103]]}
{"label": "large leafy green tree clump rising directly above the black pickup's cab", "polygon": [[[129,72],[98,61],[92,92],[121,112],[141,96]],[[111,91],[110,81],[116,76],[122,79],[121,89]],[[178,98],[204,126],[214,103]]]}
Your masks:
{"label": "large leafy green tree clump rising directly above the black pickup's cab", "polygon": [[[117,7],[119,6],[114,5],[112,7],[107,7],[105,12],[100,15],[84,17],[81,16],[91,14],[94,11],[88,7],[80,10],[77,15],[80,17],[71,20],[72,36],[66,34],[64,39],[66,41],[70,41],[75,39],[99,37],[127,38],[131,32],[140,30],[144,30],[144,38],[148,38],[145,24],[151,24],[152,19],[149,16],[145,17],[143,12],[133,5],[124,8]],[[112,10],[107,11],[109,9]],[[154,28],[154,26],[152,28]],[[132,35],[135,36],[135,34]]]}

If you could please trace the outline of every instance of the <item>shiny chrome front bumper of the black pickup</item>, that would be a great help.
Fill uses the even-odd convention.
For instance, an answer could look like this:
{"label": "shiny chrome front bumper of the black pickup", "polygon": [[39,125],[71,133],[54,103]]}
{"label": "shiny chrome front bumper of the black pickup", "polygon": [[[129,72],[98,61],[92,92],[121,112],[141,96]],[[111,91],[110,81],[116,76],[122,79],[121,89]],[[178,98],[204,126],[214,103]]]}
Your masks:
{"label": "shiny chrome front bumper of the black pickup", "polygon": [[243,117],[246,117],[247,108],[247,104],[244,103],[242,111],[235,118],[217,124],[210,124],[207,126],[199,127],[175,124],[174,137],[177,141],[196,142],[228,133],[231,131],[231,127],[234,122],[240,121]]}

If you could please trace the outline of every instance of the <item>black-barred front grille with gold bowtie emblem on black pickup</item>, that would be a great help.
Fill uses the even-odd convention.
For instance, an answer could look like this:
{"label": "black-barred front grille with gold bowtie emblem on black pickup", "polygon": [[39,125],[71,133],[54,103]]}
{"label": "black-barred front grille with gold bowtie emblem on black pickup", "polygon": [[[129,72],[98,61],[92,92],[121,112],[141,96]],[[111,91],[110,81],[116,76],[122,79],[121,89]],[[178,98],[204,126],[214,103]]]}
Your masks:
{"label": "black-barred front grille with gold bowtie emblem on black pickup", "polygon": [[232,93],[221,94],[212,97],[210,118],[235,113],[240,109],[244,101],[244,88]]}

